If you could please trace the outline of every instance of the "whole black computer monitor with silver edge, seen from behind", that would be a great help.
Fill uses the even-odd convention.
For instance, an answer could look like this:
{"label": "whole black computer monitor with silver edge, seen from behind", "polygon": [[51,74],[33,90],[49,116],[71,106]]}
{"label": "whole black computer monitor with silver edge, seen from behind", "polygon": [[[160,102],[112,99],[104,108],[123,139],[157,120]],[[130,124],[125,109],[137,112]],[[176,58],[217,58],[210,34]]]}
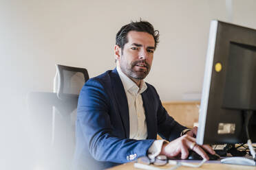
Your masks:
{"label": "whole black computer monitor with silver edge, seen from behind", "polygon": [[196,142],[256,142],[256,29],[211,21]]}

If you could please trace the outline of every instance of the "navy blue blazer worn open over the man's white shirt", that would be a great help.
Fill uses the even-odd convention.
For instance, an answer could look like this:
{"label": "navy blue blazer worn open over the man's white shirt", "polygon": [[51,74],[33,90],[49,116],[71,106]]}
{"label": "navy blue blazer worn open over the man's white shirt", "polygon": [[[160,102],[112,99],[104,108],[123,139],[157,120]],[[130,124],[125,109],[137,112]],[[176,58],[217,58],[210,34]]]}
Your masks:
{"label": "navy blue blazer worn open over the man's white shirt", "polygon": [[89,79],[78,99],[73,169],[105,169],[146,156],[157,134],[172,141],[186,129],[169,116],[150,84],[142,100],[148,136],[135,140],[129,138],[127,97],[116,69]]}

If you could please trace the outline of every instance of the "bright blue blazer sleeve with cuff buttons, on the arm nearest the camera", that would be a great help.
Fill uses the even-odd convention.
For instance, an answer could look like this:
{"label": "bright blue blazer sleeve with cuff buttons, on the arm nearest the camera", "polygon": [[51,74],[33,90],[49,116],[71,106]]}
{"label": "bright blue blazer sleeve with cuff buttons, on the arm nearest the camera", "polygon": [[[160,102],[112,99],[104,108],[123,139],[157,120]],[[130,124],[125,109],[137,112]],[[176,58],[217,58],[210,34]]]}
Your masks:
{"label": "bright blue blazer sleeve with cuff buttons, on the arm nearest the camera", "polygon": [[118,138],[113,133],[109,114],[111,98],[103,83],[90,79],[81,89],[78,99],[77,123],[92,157],[98,161],[125,163],[146,156],[152,139]]}

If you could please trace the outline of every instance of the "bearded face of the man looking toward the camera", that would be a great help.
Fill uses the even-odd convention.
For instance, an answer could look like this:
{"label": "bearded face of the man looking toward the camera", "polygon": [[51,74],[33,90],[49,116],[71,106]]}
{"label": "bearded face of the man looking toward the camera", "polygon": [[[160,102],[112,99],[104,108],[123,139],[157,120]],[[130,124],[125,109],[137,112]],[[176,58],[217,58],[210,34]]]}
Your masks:
{"label": "bearded face of the man looking toward the camera", "polygon": [[127,34],[128,42],[123,49],[116,46],[116,56],[120,69],[125,75],[139,82],[144,79],[151,69],[155,40],[147,32],[131,31]]}

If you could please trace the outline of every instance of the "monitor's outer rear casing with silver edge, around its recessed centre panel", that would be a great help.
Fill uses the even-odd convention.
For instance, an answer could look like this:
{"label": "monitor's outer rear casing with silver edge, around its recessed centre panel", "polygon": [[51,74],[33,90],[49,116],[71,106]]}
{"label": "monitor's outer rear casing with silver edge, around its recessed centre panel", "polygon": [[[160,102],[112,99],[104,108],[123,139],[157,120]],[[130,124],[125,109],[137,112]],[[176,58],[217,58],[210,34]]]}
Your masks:
{"label": "monitor's outer rear casing with silver edge, around its recessed centre panel", "polygon": [[[199,145],[246,143],[242,111],[222,108],[231,42],[256,47],[256,30],[222,21],[211,21],[196,139]],[[215,70],[217,63],[222,65],[221,71]],[[235,132],[233,134],[218,134],[217,128],[220,121],[235,124]]]}

